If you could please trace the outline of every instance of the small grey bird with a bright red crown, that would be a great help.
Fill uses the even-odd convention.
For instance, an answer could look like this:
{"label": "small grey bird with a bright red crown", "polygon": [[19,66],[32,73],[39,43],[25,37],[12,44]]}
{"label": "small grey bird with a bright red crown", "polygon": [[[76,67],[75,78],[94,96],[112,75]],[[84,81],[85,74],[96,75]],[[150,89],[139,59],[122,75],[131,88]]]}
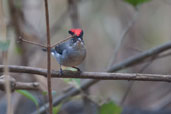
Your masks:
{"label": "small grey bird with a bright red crown", "polygon": [[69,34],[72,38],[51,49],[51,54],[56,58],[60,65],[60,74],[63,73],[61,65],[77,68],[86,57],[86,48],[83,40],[82,29],[70,29]]}

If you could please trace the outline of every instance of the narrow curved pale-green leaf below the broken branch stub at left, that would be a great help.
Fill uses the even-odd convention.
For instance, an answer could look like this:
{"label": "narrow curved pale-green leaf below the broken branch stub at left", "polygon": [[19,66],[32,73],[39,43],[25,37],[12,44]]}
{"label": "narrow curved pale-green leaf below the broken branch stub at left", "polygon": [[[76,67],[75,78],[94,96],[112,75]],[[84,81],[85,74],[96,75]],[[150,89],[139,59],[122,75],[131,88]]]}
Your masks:
{"label": "narrow curved pale-green leaf below the broken branch stub at left", "polygon": [[26,91],[26,90],[16,90],[16,92],[20,93],[21,95],[23,95],[26,98],[28,98],[31,101],[33,101],[33,103],[36,105],[36,107],[39,106],[39,103],[38,103],[37,99],[29,91]]}

